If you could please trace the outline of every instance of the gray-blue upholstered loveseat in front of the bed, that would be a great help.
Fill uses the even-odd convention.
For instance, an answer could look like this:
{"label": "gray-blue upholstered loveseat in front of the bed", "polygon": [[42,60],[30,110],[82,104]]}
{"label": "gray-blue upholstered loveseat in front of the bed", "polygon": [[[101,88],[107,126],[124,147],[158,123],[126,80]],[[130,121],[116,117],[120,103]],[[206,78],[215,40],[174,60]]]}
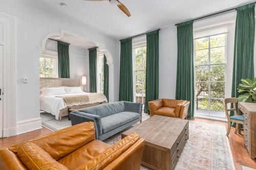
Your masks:
{"label": "gray-blue upholstered loveseat in front of the bed", "polygon": [[72,126],[94,122],[96,138],[105,140],[141,121],[141,112],[142,104],[121,101],[71,112],[69,115]]}

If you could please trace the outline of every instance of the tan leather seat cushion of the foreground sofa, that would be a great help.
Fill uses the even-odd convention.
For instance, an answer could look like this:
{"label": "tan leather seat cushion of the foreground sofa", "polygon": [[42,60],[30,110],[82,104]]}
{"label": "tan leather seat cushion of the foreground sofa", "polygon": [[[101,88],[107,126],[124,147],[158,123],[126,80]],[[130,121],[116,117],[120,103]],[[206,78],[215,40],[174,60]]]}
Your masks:
{"label": "tan leather seat cushion of the foreground sofa", "polygon": [[93,140],[69,155],[59,159],[58,162],[67,166],[69,169],[75,169],[110,147],[111,145],[100,140]]}

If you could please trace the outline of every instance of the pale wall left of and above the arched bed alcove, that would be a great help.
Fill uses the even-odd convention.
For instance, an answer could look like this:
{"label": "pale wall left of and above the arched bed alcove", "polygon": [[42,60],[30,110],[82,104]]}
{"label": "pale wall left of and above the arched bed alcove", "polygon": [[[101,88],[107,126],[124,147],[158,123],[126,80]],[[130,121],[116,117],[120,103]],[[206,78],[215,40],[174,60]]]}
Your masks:
{"label": "pale wall left of and above the arched bed alcove", "polygon": [[[33,6],[27,0],[2,0],[0,11],[17,18],[18,124],[22,120],[39,117],[38,46],[41,46],[42,40],[48,34],[60,33],[60,29],[64,29],[93,42],[104,44],[112,56],[116,55],[116,41],[114,39],[75,20],[63,18]],[[28,78],[28,83],[23,83],[25,77]],[[110,82],[110,86],[113,86],[113,81]]]}

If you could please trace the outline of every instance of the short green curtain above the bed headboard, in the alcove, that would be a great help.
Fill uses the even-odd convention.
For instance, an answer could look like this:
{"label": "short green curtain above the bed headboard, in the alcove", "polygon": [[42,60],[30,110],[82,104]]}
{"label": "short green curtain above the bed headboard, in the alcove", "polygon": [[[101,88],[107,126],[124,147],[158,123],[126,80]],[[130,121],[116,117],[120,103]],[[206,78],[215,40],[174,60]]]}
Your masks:
{"label": "short green curtain above the bed headboard, in the alcove", "polygon": [[69,43],[57,41],[59,78],[70,78]]}

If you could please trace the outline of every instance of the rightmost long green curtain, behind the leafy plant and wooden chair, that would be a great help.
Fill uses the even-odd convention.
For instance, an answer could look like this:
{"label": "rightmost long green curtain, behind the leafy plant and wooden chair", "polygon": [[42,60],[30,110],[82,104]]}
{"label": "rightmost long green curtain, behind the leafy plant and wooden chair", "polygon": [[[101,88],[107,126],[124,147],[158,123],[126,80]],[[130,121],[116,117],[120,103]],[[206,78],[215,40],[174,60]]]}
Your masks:
{"label": "rightmost long green curtain, behind the leafy plant and wooden chair", "polygon": [[[234,35],[234,59],[232,77],[232,98],[238,98],[238,85],[241,79],[254,78],[254,32],[255,4],[238,7],[236,31]],[[232,106],[231,106],[232,107]],[[230,112],[232,116],[234,113]]]}

